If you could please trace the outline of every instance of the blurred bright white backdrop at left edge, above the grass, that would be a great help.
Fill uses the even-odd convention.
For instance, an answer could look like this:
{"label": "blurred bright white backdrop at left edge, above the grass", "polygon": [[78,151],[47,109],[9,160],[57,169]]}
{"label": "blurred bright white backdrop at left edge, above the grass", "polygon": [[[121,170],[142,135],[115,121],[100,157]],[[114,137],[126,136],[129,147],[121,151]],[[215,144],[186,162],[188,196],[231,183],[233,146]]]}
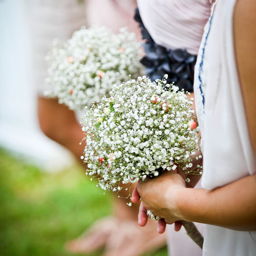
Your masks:
{"label": "blurred bright white backdrop at left edge, above the grass", "polygon": [[29,0],[0,0],[0,147],[59,171],[74,159],[38,126],[28,16]]}

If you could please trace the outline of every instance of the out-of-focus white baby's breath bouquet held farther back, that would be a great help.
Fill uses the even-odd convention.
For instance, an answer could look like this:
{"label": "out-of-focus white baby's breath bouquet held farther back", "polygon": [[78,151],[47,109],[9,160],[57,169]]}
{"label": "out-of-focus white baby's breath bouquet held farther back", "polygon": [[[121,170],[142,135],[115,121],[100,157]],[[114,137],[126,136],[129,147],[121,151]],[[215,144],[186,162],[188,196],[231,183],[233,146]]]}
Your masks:
{"label": "out-of-focus white baby's breath bouquet held farther back", "polygon": [[83,109],[100,100],[113,84],[120,84],[143,72],[140,43],[134,33],[122,28],[114,34],[106,27],[82,27],[64,44],[58,39],[46,56],[52,91],[72,110]]}

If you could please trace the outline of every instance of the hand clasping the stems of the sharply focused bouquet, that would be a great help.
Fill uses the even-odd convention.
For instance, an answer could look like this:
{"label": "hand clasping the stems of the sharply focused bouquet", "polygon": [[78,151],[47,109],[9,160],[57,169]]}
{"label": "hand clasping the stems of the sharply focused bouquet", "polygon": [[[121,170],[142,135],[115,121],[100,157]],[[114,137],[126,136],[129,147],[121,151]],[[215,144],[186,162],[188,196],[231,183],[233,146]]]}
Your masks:
{"label": "hand clasping the stems of the sharply focused bouquet", "polygon": [[[132,202],[137,203],[140,198],[140,211],[138,222],[140,226],[145,226],[148,216],[146,209],[154,212],[162,219],[158,222],[157,231],[163,233],[167,224],[172,224],[180,220],[178,209],[175,208],[175,193],[186,188],[184,178],[177,172],[164,172],[160,177],[153,180],[139,181],[132,194]],[[181,224],[175,223],[175,230],[180,230]]]}

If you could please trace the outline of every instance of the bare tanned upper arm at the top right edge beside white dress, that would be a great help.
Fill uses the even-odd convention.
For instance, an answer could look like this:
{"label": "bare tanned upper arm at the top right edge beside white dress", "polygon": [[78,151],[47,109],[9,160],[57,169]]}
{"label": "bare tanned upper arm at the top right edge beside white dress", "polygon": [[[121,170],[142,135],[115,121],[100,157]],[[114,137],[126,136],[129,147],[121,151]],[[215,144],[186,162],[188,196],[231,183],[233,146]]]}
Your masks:
{"label": "bare tanned upper arm at the top right edge beside white dress", "polygon": [[237,0],[233,16],[236,61],[256,155],[256,1]]}

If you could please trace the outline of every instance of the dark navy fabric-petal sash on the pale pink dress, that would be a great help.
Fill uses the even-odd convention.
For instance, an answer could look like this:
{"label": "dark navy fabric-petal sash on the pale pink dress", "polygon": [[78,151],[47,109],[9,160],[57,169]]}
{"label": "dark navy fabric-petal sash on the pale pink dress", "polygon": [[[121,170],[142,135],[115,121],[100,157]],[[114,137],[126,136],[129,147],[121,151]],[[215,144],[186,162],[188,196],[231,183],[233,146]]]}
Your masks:
{"label": "dark navy fabric-petal sash on the pale pink dress", "polygon": [[156,44],[145,28],[136,9],[134,19],[140,24],[141,33],[145,43],[146,56],[141,59],[146,73],[151,80],[162,79],[168,74],[167,83],[174,82],[179,89],[193,92],[194,70],[197,55],[189,54],[186,49],[167,49]]}

